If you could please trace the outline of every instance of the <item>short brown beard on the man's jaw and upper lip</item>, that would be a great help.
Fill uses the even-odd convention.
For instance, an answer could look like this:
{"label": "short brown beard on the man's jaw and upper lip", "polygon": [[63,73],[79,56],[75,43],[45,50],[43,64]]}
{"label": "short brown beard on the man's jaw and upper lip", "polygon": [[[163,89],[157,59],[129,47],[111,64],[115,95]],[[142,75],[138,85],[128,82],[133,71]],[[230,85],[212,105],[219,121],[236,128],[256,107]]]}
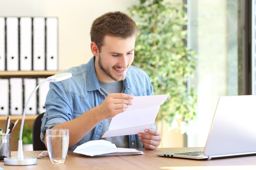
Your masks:
{"label": "short brown beard on the man's jaw and upper lip", "polygon": [[[120,74],[119,76],[115,76],[115,75],[112,75],[111,74],[111,69],[108,69],[108,68],[104,68],[103,66],[103,63],[102,63],[102,60],[101,60],[101,56],[99,54],[99,60],[98,60],[98,65],[100,67],[100,69],[106,74],[108,75],[111,79],[113,79],[114,81],[123,81],[126,77],[126,73],[123,73],[123,74]],[[113,66],[114,68],[117,68],[117,69],[124,69],[124,67],[119,67],[119,66]],[[130,64],[128,64],[126,66],[126,69],[128,70],[128,68],[130,67]],[[126,71],[127,71],[126,70]]]}

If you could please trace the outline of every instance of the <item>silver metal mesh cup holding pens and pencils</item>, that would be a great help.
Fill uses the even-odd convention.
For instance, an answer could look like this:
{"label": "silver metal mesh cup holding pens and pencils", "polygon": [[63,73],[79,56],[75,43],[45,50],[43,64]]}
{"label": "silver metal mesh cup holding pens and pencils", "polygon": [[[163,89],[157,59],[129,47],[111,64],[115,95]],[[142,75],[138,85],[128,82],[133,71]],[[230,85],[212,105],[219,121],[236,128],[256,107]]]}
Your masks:
{"label": "silver metal mesh cup holding pens and pencils", "polygon": [[11,134],[0,134],[0,153],[11,156]]}

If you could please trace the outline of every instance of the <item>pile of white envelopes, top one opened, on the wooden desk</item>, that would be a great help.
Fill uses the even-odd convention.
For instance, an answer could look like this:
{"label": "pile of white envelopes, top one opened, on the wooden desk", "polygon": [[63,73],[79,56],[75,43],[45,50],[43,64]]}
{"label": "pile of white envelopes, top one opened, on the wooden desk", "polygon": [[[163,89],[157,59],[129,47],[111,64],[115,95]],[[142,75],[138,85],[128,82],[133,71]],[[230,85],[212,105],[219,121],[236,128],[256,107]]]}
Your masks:
{"label": "pile of white envelopes, top one opened, on the wooden desk", "polygon": [[107,140],[91,140],[78,146],[73,152],[87,156],[139,155],[142,151],[130,148],[117,148]]}

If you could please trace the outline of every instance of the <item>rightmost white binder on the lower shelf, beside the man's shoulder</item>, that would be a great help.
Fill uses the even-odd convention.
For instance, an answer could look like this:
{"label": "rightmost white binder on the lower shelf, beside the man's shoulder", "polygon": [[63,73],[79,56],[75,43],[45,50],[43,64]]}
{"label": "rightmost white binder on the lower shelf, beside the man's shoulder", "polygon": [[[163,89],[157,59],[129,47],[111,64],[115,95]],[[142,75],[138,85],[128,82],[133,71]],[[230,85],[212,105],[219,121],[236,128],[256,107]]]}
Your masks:
{"label": "rightmost white binder on the lower shelf, beside the man's shoulder", "polygon": [[[40,84],[45,79],[46,78],[38,78],[37,84]],[[45,112],[45,100],[46,100],[46,95],[49,91],[49,84],[50,82],[47,81],[44,84],[42,84],[38,89],[38,113]]]}

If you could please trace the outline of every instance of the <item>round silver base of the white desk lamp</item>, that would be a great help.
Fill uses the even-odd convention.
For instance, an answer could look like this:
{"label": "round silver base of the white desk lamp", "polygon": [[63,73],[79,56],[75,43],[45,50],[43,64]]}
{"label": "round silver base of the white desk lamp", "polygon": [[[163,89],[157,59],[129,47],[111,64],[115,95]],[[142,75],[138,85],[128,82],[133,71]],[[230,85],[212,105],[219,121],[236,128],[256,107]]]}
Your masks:
{"label": "round silver base of the white desk lamp", "polygon": [[5,165],[35,165],[37,158],[24,157],[24,159],[17,159],[17,157],[4,158]]}

